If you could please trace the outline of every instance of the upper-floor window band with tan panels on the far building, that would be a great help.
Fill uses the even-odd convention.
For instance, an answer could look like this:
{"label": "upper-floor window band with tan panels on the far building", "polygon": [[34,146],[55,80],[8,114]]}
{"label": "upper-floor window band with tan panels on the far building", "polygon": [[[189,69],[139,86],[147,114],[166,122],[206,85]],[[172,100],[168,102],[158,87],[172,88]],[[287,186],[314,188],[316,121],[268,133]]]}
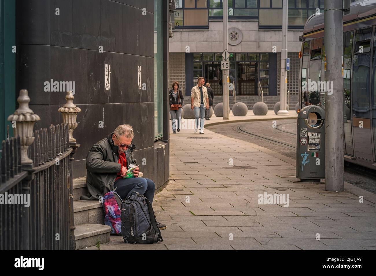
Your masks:
{"label": "upper-floor window band with tan panels on the far building", "polygon": [[[176,0],[177,28],[208,28],[209,19],[223,18],[223,1]],[[259,19],[261,28],[282,27],[282,0],[227,1],[229,19]],[[288,0],[288,27],[302,29],[308,17],[317,12],[324,12],[324,0]]]}

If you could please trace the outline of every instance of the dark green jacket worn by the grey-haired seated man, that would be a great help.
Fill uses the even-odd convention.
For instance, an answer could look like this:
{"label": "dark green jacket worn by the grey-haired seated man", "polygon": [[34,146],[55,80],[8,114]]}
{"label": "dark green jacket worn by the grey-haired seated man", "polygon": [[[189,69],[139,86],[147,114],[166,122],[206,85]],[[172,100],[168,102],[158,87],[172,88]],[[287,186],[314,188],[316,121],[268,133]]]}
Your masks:
{"label": "dark green jacket worn by the grey-haired seated man", "polygon": [[[96,200],[99,196],[114,190],[115,178],[121,170],[121,165],[118,163],[118,146],[114,145],[112,134],[114,133],[96,143],[86,156],[86,185],[89,194],[81,196],[80,199]],[[133,157],[135,148],[132,144],[132,147],[125,151],[127,166],[131,163],[137,165]]]}

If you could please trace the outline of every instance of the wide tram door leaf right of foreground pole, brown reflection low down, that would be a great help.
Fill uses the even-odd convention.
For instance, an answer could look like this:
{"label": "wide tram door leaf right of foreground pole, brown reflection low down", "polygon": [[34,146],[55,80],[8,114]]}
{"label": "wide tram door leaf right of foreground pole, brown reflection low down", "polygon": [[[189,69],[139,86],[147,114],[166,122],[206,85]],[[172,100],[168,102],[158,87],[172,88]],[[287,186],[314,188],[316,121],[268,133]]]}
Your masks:
{"label": "wide tram door leaf right of foreground pole, brown reflection low down", "polygon": [[370,74],[372,29],[355,31],[352,71],[352,125],[354,153],[373,160],[370,112]]}

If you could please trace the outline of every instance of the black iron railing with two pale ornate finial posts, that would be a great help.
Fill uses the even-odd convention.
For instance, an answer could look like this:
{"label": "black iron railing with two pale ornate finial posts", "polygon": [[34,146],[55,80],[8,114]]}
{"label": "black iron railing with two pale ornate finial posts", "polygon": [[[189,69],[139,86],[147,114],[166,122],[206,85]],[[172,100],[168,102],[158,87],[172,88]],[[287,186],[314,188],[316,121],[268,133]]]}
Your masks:
{"label": "black iron railing with two pale ornate finial posts", "polygon": [[81,109],[71,94],[58,110],[64,124],[33,132],[40,118],[28,106],[27,90],[20,90],[20,106],[8,117],[16,137],[8,135],[0,151],[0,250],[76,247],[72,164],[80,145],[73,130]]}

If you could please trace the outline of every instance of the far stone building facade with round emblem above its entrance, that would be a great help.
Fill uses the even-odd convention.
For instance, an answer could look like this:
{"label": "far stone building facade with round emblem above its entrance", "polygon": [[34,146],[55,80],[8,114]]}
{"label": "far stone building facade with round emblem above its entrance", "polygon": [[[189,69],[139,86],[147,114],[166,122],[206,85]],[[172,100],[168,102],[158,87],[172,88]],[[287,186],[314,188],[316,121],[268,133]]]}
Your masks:
{"label": "far stone building facade with round emblem above its entrance", "polygon": [[[170,39],[170,80],[182,83],[190,95],[197,77],[211,84],[217,101],[222,95],[220,61],[223,52],[223,0],[176,0],[174,36]],[[249,107],[264,96],[279,101],[282,0],[228,0],[230,83]],[[323,0],[288,1],[288,90],[291,106],[299,91],[299,36],[307,18],[323,12]],[[185,72],[183,74],[182,72]],[[232,91],[230,91],[230,98]],[[230,100],[231,103],[231,100]],[[230,104],[231,106],[231,104]]]}

